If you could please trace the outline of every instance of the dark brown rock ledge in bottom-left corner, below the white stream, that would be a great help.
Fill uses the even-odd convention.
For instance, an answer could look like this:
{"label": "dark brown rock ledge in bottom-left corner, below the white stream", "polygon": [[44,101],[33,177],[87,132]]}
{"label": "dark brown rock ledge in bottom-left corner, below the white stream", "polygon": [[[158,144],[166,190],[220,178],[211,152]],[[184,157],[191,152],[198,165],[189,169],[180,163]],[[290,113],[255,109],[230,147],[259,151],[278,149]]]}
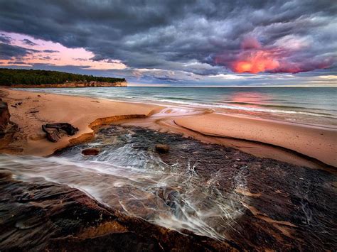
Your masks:
{"label": "dark brown rock ledge in bottom-left corner, below the white stream", "polygon": [[1,251],[237,251],[230,241],[127,217],[43,179],[21,182],[0,172],[0,199]]}

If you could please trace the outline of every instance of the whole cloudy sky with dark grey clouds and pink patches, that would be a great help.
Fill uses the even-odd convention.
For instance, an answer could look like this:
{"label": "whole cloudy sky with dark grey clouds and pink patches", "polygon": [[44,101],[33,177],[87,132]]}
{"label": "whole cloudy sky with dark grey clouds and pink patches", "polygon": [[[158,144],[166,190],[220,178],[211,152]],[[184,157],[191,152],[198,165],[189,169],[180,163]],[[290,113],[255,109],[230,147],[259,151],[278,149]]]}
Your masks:
{"label": "whole cloudy sky with dark grey clouds and pink patches", "polygon": [[134,85],[337,87],[337,1],[0,0],[0,67]]}

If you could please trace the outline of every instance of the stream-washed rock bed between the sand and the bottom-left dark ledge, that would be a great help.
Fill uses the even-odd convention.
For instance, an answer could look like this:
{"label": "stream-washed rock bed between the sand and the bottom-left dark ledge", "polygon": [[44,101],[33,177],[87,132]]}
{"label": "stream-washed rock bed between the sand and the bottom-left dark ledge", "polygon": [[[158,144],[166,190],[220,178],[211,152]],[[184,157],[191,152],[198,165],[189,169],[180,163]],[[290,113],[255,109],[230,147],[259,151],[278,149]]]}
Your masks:
{"label": "stream-washed rock bed between the sand and the bottom-left dark ledge", "polygon": [[[156,153],[156,143],[169,144],[169,153]],[[100,148],[100,153],[82,155],[88,147]],[[3,171],[14,180],[37,184],[33,187],[41,188],[39,194],[46,193],[45,181],[75,187],[124,214],[185,234],[234,241],[247,250],[274,244],[320,251],[337,243],[337,206],[331,200],[336,175],[178,134],[108,126],[95,141],[49,158],[0,155]],[[22,193],[31,198],[32,192]],[[53,195],[44,197],[47,205],[49,197]],[[25,221],[30,223],[23,218],[17,225]]]}

